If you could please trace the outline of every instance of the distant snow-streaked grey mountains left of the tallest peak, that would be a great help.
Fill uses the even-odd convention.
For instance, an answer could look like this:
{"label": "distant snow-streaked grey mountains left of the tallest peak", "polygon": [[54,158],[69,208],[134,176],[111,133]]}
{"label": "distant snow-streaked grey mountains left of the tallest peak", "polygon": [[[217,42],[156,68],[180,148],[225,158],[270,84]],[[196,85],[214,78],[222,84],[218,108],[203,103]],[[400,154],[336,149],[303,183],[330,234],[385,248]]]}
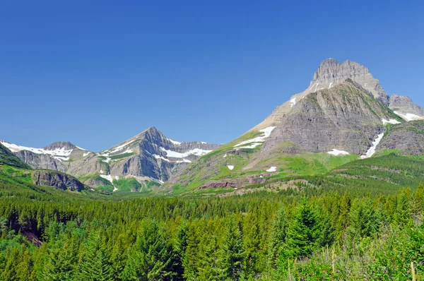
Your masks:
{"label": "distant snow-streaked grey mountains left of the tallest peak", "polygon": [[83,177],[84,183],[102,185],[109,181],[135,177],[139,181],[164,182],[170,175],[220,145],[204,142],[177,142],[166,138],[157,128],[146,131],[100,153],[92,153],[69,142],[56,142],[45,148],[27,148],[2,142],[33,169],[51,169]]}

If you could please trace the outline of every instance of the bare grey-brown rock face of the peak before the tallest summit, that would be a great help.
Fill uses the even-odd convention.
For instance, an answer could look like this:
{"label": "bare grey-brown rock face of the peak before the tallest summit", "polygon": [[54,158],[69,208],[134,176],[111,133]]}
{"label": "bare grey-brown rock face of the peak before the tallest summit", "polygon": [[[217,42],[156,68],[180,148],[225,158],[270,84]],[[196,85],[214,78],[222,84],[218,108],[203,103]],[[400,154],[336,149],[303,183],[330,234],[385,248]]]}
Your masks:
{"label": "bare grey-brown rock face of the peak before the tallest summit", "polygon": [[[364,155],[384,131],[382,119],[399,119],[353,80],[318,90],[300,100],[276,124],[262,147],[271,152],[322,153],[332,149]],[[291,145],[288,145],[291,144]]]}

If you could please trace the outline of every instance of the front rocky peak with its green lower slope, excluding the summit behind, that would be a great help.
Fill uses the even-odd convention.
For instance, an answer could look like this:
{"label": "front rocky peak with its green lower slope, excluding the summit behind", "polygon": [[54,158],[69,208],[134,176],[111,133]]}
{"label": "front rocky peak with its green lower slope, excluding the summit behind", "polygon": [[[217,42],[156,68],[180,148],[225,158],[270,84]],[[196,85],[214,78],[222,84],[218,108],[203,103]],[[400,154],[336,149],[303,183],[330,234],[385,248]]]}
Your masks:
{"label": "front rocky peak with its green lower slope, excluding the summit behind", "polygon": [[[386,131],[387,121],[404,122],[370,92],[346,80],[306,95],[272,126],[249,131],[200,157],[159,191],[240,188],[278,177],[326,174],[365,155]],[[329,154],[334,149],[346,155]]]}

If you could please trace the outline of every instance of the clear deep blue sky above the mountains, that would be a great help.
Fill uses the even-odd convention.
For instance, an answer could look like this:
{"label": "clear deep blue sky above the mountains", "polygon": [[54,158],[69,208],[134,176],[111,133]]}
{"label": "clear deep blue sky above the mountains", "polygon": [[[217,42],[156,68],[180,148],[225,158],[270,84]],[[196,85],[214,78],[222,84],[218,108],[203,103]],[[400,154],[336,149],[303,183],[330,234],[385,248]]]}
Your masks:
{"label": "clear deep blue sky above the mountains", "polygon": [[422,1],[1,2],[0,139],[20,145],[226,143],[329,57],[424,106]]}

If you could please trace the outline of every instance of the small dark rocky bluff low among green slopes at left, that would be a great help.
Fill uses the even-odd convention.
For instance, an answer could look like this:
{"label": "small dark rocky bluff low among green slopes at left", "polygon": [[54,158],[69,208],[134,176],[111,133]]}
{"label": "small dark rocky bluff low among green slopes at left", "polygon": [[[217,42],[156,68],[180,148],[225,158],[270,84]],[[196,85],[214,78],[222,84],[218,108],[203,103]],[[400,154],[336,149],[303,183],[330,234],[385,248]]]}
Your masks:
{"label": "small dark rocky bluff low among green slopes at left", "polygon": [[61,190],[81,191],[84,189],[84,185],[78,179],[68,174],[48,170],[36,170],[33,174],[33,181],[38,186],[52,186]]}

